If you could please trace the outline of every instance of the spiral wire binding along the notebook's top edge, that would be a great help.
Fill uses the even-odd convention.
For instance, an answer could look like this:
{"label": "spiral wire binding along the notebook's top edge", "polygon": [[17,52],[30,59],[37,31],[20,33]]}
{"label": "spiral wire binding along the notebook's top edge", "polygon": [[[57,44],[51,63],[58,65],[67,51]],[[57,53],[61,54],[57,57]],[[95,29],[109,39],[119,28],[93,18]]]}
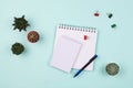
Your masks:
{"label": "spiral wire binding along the notebook's top edge", "polygon": [[68,24],[60,24],[58,28],[63,30],[83,31],[83,32],[91,32],[91,33],[96,32],[95,28],[76,26],[76,25],[68,25]]}

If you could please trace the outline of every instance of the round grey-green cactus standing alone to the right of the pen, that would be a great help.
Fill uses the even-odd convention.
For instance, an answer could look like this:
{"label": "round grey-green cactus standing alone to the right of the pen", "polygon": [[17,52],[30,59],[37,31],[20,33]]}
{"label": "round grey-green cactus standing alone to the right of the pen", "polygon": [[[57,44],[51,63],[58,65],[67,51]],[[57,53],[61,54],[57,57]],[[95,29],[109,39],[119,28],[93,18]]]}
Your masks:
{"label": "round grey-green cactus standing alone to the right of the pen", "polygon": [[106,65],[105,70],[109,75],[114,76],[119,73],[120,67],[115,63],[110,63],[110,64]]}

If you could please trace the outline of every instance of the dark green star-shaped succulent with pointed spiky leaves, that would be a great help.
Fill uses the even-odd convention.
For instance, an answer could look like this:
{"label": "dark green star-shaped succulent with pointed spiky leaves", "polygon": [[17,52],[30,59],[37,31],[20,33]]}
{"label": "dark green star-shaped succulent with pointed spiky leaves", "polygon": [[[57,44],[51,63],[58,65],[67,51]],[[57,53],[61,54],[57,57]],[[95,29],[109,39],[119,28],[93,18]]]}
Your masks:
{"label": "dark green star-shaped succulent with pointed spiky leaves", "polygon": [[22,30],[27,31],[25,29],[29,26],[29,23],[24,19],[24,15],[22,15],[22,18],[14,18],[14,23],[12,25],[14,25],[13,30],[18,29],[21,32]]}

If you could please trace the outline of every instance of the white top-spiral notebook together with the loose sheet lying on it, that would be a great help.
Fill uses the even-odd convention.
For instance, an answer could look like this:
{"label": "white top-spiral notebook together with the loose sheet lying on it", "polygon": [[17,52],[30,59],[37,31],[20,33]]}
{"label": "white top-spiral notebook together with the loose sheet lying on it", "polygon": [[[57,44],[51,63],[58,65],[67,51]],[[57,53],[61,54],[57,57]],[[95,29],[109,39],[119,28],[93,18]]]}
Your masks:
{"label": "white top-spiral notebook together with the loose sheet lying on it", "polygon": [[[61,24],[57,28],[51,66],[70,73],[81,69],[95,54],[95,28]],[[93,70],[91,63],[85,70]]]}

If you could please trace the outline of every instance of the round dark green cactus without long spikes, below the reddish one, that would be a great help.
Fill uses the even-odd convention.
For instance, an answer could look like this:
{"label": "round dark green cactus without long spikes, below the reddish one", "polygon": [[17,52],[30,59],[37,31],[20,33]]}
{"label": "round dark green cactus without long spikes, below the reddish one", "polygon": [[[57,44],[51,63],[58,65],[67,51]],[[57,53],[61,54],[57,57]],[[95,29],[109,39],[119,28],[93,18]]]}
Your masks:
{"label": "round dark green cactus without long spikes, below the reddish one", "polygon": [[24,51],[24,46],[21,43],[14,43],[11,51],[16,55],[20,55]]}

